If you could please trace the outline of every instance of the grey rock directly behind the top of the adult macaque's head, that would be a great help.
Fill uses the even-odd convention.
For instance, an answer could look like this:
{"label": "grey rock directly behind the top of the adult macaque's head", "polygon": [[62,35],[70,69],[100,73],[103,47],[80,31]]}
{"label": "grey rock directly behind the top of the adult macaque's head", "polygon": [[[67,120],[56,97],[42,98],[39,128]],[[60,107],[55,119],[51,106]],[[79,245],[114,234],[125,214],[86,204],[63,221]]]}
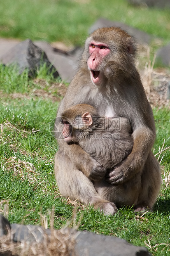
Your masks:
{"label": "grey rock directly behind the top of the adult macaque's head", "polygon": [[123,24],[118,21],[109,21],[107,19],[98,19],[89,29],[89,33],[92,33],[97,28],[103,27],[111,27],[116,26],[128,32],[131,36],[134,36],[139,43],[147,43],[149,44],[151,39],[153,38],[151,35],[145,33],[144,31],[140,31],[137,28],[130,27],[126,24]]}

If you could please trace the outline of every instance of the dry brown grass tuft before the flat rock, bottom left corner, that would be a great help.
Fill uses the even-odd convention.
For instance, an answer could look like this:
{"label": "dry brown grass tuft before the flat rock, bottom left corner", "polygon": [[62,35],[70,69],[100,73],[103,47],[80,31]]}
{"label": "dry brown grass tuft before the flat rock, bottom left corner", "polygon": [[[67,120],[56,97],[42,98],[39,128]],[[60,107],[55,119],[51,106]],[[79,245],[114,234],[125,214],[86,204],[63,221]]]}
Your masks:
{"label": "dry brown grass tuft before the flat rock, bottom left corner", "polygon": [[10,256],[75,256],[77,232],[70,229],[52,230],[51,236],[43,233],[42,242],[21,243],[12,241],[12,232],[0,237],[0,254]]}

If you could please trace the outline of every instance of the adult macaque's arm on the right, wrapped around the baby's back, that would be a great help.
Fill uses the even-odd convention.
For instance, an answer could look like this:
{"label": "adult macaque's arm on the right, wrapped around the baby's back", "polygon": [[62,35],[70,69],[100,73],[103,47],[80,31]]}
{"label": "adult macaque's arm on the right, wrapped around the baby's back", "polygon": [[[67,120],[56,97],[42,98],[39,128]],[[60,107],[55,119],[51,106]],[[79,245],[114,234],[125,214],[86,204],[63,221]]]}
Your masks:
{"label": "adult macaque's arm on the right, wrapped around the baby's back", "polygon": [[[105,71],[111,72],[111,76],[115,76],[115,66],[115,62],[109,62],[108,66],[106,65]],[[116,76],[123,72],[123,69],[118,68],[118,66],[116,70],[119,70],[119,72],[116,72]],[[154,116],[140,79],[138,80],[138,85],[140,85],[138,90],[134,88],[134,83],[131,83],[129,86],[129,92],[131,95],[134,95],[133,101],[129,100],[131,95],[126,89],[123,89],[122,85],[122,90],[124,90],[126,95],[125,103],[127,104],[124,108],[128,109],[128,111],[121,114],[127,117],[132,125],[134,144],[129,156],[107,174],[106,180],[111,184],[124,183],[140,172],[147,160],[151,147],[154,145],[156,137]]]}

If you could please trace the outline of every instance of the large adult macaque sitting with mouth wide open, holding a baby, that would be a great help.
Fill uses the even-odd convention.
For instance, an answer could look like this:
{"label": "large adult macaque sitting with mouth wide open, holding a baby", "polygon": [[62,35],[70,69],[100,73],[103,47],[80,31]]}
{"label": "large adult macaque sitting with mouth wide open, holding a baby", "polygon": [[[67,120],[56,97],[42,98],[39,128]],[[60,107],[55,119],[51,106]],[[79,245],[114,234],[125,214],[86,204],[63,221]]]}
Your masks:
{"label": "large adult macaque sitting with mouth wide open, holding a baby", "polygon": [[[133,149],[112,169],[106,181],[111,187],[124,186],[124,195],[135,197],[133,206],[138,211],[152,208],[160,190],[161,173],[151,152],[156,136],[154,117],[135,67],[135,50],[133,38],[120,28],[99,28],[87,38],[77,74],[58,109],[56,137],[58,131],[62,134],[63,130],[58,117],[76,104],[90,104],[100,116],[127,118],[132,128]],[[103,185],[103,191],[97,192],[89,179],[102,172],[105,166],[77,144],[68,145],[60,139],[58,143],[55,175],[61,194],[73,199],[79,197],[80,201],[93,204],[105,214],[114,214],[115,200],[112,195],[109,197],[109,189]],[[140,176],[137,185],[136,175]],[[129,190],[128,182],[134,182],[135,195]]]}

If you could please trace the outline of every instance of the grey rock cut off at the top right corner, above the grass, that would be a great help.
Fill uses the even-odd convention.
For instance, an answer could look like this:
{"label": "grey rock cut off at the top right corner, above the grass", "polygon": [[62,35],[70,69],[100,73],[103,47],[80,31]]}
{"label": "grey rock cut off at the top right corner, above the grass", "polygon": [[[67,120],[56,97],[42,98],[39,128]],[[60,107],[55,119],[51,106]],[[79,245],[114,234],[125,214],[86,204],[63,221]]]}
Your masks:
{"label": "grey rock cut off at the top right corner, above the grass", "polygon": [[170,8],[170,0],[128,0],[130,4],[147,5],[148,7]]}

